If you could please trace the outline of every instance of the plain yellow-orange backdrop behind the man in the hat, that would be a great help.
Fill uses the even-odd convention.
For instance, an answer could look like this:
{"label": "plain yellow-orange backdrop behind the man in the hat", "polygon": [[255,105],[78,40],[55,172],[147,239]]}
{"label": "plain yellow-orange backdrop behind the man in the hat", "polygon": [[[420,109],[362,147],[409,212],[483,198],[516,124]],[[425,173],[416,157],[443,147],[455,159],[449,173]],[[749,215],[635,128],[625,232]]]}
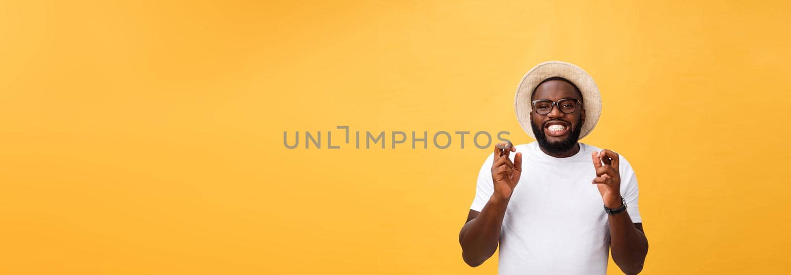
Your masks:
{"label": "plain yellow-orange backdrop behind the man in the hat", "polygon": [[582,141],[638,174],[645,274],[789,273],[788,13],[2,2],[0,273],[494,274],[496,255],[470,268],[457,238],[490,150],[288,150],[282,132],[528,143],[513,92],[547,60],[600,87]]}

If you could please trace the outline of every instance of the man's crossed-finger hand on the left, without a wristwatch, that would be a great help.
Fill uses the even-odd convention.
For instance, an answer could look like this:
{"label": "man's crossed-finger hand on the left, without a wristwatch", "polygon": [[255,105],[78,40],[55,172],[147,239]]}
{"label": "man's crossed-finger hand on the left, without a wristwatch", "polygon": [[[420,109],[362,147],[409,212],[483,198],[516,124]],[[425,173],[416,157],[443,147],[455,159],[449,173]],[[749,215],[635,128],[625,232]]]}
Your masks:
{"label": "man's crossed-finger hand on the left, without a wristwatch", "polygon": [[519,178],[522,175],[522,153],[517,153],[513,157],[513,162],[509,159],[511,152],[516,152],[517,148],[512,143],[498,143],[494,146],[494,163],[492,164],[492,182],[494,183],[494,194],[497,199],[511,199],[513,188],[517,187]]}

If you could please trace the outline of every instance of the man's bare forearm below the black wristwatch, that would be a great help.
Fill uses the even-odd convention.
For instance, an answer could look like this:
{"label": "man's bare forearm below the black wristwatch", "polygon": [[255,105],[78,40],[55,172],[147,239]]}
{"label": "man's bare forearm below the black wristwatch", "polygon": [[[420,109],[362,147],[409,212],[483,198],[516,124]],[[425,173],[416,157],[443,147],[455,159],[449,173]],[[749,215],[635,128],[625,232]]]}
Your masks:
{"label": "man's bare forearm below the black wristwatch", "polygon": [[626,274],[640,273],[648,255],[648,239],[624,211],[608,217],[612,260]]}

